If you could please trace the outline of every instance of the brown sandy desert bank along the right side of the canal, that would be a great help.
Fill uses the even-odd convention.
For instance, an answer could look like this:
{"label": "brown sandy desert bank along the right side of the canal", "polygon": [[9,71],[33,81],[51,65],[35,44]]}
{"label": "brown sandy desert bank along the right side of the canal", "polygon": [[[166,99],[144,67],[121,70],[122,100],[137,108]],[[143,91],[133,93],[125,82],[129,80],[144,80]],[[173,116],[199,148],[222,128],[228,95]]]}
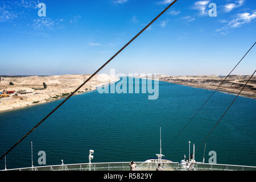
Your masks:
{"label": "brown sandy desert bank along the right side of the canal", "polygon": [[[143,78],[143,77],[142,77]],[[145,77],[144,77],[145,78]],[[231,75],[218,88],[218,92],[229,94],[238,94],[250,76]],[[166,76],[159,75],[159,81],[171,82],[179,85],[192,86],[195,88],[203,88],[215,90],[218,85],[225,79],[224,76]],[[256,98],[256,76],[253,76],[245,86],[240,96]]]}

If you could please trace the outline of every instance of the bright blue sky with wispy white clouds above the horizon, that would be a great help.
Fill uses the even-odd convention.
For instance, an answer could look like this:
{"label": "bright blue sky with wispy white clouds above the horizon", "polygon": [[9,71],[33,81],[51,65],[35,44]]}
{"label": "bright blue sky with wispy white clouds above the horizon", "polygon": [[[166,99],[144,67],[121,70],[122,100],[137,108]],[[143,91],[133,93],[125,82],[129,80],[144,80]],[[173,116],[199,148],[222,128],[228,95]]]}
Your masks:
{"label": "bright blue sky with wispy white clouds above the horizon", "polygon": [[[1,1],[0,75],[93,73],[170,2]],[[255,42],[255,22],[253,0],[178,0],[102,72],[226,75]],[[255,57],[256,47],[234,74],[253,73]]]}

